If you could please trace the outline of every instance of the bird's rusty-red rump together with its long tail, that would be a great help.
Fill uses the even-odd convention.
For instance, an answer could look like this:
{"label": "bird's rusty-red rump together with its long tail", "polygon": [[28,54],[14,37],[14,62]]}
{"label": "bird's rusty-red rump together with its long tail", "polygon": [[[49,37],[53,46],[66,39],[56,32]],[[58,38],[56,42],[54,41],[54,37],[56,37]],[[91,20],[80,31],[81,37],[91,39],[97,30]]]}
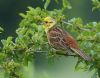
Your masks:
{"label": "bird's rusty-red rump together with its long tail", "polygon": [[79,49],[76,40],[68,32],[65,32],[64,34],[65,34],[65,36],[64,36],[65,43],[66,43],[66,45],[69,45],[69,48],[73,52],[80,55],[85,60],[88,60],[88,61],[91,60],[90,56],[86,55],[83,51],[81,51]]}

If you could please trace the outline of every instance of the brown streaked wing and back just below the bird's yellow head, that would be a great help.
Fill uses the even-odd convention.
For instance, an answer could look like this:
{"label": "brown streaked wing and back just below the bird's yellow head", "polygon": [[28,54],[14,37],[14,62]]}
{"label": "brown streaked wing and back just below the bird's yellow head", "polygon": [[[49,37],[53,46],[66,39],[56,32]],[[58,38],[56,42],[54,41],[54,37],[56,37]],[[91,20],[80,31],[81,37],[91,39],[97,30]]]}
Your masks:
{"label": "brown streaked wing and back just below the bird's yellow head", "polygon": [[63,33],[64,32],[60,28],[54,28],[48,33],[49,40],[50,43],[57,47],[59,46],[60,48],[68,49],[68,45],[66,45],[64,41]]}

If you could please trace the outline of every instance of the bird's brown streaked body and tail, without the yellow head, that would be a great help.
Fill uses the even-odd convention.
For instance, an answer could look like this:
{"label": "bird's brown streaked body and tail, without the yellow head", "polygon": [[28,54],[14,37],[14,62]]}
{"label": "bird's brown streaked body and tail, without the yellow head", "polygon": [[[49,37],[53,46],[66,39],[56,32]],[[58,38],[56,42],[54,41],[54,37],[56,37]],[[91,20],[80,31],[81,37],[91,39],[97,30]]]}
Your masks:
{"label": "bird's brown streaked body and tail, without the yellow head", "polygon": [[90,57],[79,49],[76,40],[68,32],[54,26],[47,32],[47,37],[49,43],[54,48],[60,50],[70,49],[85,60],[90,60]]}

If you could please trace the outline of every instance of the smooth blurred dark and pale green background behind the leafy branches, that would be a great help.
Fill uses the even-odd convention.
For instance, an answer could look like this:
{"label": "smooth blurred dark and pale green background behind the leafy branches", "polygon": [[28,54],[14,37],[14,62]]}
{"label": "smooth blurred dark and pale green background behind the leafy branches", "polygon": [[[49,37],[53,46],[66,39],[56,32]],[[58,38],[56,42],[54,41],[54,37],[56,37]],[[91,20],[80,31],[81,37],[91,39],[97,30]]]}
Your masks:
{"label": "smooth blurred dark and pale green background behind the leafy branches", "polygon": [[[60,4],[56,4],[54,0],[51,1],[48,10],[61,8]],[[65,11],[68,19],[81,17],[84,23],[100,21],[100,13],[98,11],[92,12],[91,0],[69,0],[69,2],[72,9]],[[0,0],[0,26],[4,28],[0,40],[6,39],[7,36],[16,37],[15,30],[21,21],[19,13],[28,10],[28,6],[43,8],[43,5],[42,0]],[[62,56],[49,63],[44,55],[36,54],[36,56],[34,64],[29,63],[29,66],[25,67],[26,78],[90,78],[92,75],[92,72],[89,71],[75,71],[77,58]]]}

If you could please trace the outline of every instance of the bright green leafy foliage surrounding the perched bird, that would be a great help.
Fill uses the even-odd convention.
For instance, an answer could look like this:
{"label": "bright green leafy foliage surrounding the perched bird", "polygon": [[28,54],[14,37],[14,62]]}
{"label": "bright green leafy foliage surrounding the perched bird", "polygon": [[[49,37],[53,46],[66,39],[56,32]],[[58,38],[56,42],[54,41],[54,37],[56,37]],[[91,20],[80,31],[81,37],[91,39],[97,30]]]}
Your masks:
{"label": "bright green leafy foliage surrounding the perched bird", "polygon": [[[3,47],[0,48],[0,67],[5,71],[7,77],[23,78],[21,70],[23,65],[28,65],[28,61],[33,61],[35,53],[45,53],[47,56],[54,56],[56,50],[53,50],[48,44],[46,34],[41,23],[47,16],[57,20],[58,25],[77,37],[79,46],[89,54],[93,60],[84,61],[78,57],[76,69],[95,70],[94,78],[100,77],[100,22],[91,22],[83,24],[81,18],[72,18],[65,22],[66,15],[63,10],[69,6],[69,3],[63,2],[64,9],[46,10],[50,0],[44,5],[45,9],[39,7],[28,7],[25,14],[20,13],[23,18],[16,30],[17,37],[8,37],[2,39]],[[57,2],[58,0],[56,0]],[[0,28],[0,30],[2,30]]]}

